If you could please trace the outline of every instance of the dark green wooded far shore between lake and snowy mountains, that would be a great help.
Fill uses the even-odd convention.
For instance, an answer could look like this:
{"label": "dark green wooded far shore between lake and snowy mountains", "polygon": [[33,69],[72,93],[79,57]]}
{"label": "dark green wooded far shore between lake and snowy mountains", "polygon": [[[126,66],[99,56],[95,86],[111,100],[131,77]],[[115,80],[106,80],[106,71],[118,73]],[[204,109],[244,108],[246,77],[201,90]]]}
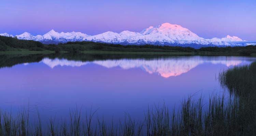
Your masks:
{"label": "dark green wooded far shore between lake and snowy mountains", "polygon": [[236,47],[201,47],[195,49],[180,46],[157,45],[120,45],[96,42],[67,42],[59,44],[42,44],[32,40],[19,40],[13,37],[0,36],[0,51],[54,51],[56,53],[86,53],[94,52],[158,52],[158,53],[183,53],[188,55],[241,55],[255,56],[256,46]]}

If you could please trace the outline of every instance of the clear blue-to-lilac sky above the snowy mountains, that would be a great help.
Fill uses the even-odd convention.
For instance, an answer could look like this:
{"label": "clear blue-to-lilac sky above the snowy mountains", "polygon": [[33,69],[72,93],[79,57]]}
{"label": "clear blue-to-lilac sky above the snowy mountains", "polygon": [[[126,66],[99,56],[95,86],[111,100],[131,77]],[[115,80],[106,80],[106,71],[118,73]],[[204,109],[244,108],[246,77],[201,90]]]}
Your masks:
{"label": "clear blue-to-lilac sky above the snowy mountains", "polygon": [[255,6],[255,0],[1,0],[0,33],[54,29],[95,35],[140,32],[169,22],[203,38],[235,35],[256,41]]}

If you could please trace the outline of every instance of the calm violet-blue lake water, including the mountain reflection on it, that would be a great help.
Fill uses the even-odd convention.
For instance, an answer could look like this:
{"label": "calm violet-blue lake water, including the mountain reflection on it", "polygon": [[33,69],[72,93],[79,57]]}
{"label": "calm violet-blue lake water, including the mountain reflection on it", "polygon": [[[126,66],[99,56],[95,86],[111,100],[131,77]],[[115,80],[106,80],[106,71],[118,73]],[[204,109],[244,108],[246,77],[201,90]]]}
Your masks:
{"label": "calm violet-blue lake water, including the mountain reflection on it", "polygon": [[104,115],[107,121],[112,116],[118,121],[125,112],[133,119],[142,120],[148,106],[162,106],[165,102],[172,109],[174,105],[179,107],[189,95],[197,99],[202,94],[207,103],[212,93],[223,92],[217,79],[220,71],[250,64],[256,58],[193,56],[81,60],[39,57],[37,62],[29,60],[31,63],[2,66],[0,109],[12,110],[15,114],[18,109],[29,108],[31,118],[36,118],[38,108],[41,118],[48,120],[55,115],[58,119],[68,118],[69,111],[76,107],[82,107],[82,114],[92,107],[93,111],[98,109],[96,116]]}

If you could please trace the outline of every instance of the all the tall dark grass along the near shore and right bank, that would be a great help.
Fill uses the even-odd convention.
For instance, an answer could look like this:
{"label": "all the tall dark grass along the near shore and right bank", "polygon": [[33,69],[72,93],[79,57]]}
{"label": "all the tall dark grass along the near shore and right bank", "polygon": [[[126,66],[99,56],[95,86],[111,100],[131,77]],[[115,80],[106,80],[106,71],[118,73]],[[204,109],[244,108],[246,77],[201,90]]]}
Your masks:
{"label": "all the tall dark grass along the near shore and right bank", "polygon": [[[209,102],[189,96],[175,111],[162,106],[148,107],[142,122],[129,114],[119,123],[107,125],[104,117],[96,117],[92,108],[81,114],[82,109],[70,111],[68,120],[55,118],[42,130],[40,113],[35,124],[29,124],[25,109],[17,116],[0,111],[0,136],[240,136],[256,135],[256,63],[237,66],[219,74],[223,87],[232,97],[212,95]],[[38,111],[38,110],[37,110]],[[85,119],[83,120],[83,116]],[[114,118],[114,117],[113,117]],[[97,122],[96,125],[92,125]]]}

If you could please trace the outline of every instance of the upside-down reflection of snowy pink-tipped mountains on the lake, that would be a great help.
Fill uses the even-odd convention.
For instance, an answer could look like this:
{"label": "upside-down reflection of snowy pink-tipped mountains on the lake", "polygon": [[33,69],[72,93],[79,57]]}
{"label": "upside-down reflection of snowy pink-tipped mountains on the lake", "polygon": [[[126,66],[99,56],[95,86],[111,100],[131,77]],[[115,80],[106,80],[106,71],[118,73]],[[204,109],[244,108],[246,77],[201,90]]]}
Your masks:
{"label": "upside-down reflection of snowy pink-tipped mountains on the lake", "polygon": [[157,59],[117,59],[117,60],[94,60],[77,61],[67,59],[44,58],[41,62],[52,69],[56,66],[82,66],[87,64],[97,64],[107,68],[121,67],[122,69],[141,68],[150,74],[158,74],[161,77],[179,76],[187,73],[191,69],[203,63],[224,64],[227,67],[239,64],[248,64],[253,58],[247,57],[170,57]]}

